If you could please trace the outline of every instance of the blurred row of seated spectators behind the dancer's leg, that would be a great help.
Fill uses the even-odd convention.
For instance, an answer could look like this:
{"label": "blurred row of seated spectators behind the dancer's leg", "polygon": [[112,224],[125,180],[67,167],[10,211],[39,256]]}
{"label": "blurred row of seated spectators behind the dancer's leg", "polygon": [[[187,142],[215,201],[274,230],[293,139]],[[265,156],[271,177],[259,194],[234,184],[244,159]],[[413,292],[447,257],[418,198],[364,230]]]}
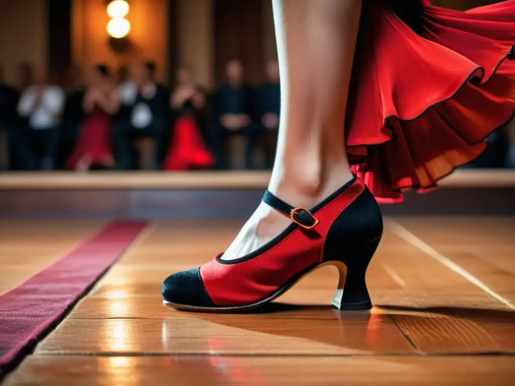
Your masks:
{"label": "blurred row of seated spectators behind the dancer's leg", "polygon": [[[153,62],[122,65],[112,74],[106,65],[74,67],[62,88],[45,73],[33,81],[27,63],[16,68],[10,86],[0,65],[0,169],[228,169],[238,146],[242,167],[269,169],[281,90],[277,61],[265,70],[253,89],[242,63],[232,60],[227,81],[210,97],[187,66],[178,69],[170,92],[156,80]],[[492,133],[486,151],[464,167],[515,168],[515,124]]]}

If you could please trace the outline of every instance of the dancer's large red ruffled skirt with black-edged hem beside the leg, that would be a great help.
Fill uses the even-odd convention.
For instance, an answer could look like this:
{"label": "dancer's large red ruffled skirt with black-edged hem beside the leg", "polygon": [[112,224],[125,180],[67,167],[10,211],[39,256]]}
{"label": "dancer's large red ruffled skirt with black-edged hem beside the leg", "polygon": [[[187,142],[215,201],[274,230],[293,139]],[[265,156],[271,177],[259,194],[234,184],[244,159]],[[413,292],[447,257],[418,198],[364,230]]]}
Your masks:
{"label": "dancer's large red ruffled skirt with black-edged hem beside the leg", "polygon": [[361,22],[348,155],[377,201],[400,202],[475,159],[513,117],[515,0],[465,12],[424,2],[423,37],[377,3]]}

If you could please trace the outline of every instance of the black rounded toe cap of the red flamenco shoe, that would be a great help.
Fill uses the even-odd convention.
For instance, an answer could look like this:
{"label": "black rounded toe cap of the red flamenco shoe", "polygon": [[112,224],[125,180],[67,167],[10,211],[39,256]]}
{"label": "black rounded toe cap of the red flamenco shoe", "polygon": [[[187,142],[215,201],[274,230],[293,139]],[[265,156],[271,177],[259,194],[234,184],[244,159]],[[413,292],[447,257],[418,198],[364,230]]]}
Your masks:
{"label": "black rounded toe cap of the red flamenco shoe", "polygon": [[166,278],[161,288],[167,302],[196,307],[214,307],[215,304],[205,290],[200,269],[174,273]]}

